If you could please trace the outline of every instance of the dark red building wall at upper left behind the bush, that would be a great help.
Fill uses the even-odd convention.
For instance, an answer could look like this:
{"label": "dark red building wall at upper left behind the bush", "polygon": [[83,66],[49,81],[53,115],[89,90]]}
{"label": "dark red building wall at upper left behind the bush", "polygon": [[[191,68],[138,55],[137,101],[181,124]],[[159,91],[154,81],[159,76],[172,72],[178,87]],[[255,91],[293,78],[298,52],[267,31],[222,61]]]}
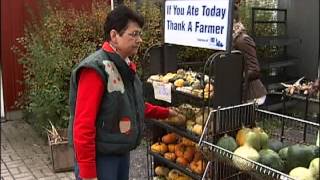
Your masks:
{"label": "dark red building wall at upper left behind the bush", "polygon": [[[105,0],[109,2],[109,0]],[[30,10],[37,16],[39,9],[37,2],[41,0],[1,0],[1,59],[0,68],[3,80],[4,110],[17,110],[15,101],[23,91],[22,67],[18,57],[11,50],[17,45],[16,39],[22,37],[24,26],[31,19]],[[54,1],[53,1],[54,2]],[[75,9],[90,9],[92,0],[62,0],[64,7]],[[109,2],[110,3],[110,2]],[[1,105],[3,106],[3,105]],[[3,108],[3,107],[1,107]]]}

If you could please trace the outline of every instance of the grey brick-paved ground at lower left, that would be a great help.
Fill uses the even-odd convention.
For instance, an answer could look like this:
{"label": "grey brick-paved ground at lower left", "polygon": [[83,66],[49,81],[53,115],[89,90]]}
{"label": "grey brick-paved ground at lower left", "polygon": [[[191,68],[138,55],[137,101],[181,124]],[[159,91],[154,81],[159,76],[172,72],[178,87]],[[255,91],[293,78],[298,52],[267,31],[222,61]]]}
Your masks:
{"label": "grey brick-paved ground at lower left", "polygon": [[23,120],[1,123],[1,180],[73,180],[73,172],[54,173],[49,146]]}

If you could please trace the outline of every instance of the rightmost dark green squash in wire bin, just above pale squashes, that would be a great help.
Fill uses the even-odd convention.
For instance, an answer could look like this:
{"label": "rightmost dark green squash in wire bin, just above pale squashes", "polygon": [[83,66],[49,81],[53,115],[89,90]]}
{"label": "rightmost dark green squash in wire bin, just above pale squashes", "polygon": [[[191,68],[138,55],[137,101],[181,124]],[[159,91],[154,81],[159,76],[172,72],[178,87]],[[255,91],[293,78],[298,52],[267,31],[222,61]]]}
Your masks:
{"label": "rightmost dark green squash in wire bin, just above pale squashes", "polygon": [[314,152],[309,146],[295,144],[289,146],[287,156],[287,167],[291,170],[295,167],[309,167],[310,161],[314,157]]}

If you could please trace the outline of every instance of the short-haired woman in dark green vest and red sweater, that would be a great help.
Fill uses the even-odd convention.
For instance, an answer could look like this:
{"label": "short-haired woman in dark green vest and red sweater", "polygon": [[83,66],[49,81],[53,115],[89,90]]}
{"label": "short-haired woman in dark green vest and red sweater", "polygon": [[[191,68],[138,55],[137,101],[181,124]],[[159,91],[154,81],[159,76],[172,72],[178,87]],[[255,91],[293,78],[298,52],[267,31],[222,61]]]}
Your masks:
{"label": "short-haired woman in dark green vest and red sweater", "polygon": [[142,42],[143,24],[142,16],[119,5],[105,20],[102,48],[72,71],[69,140],[77,180],[128,180],[130,151],[140,143],[144,118],[177,115],[144,102],[129,59]]}

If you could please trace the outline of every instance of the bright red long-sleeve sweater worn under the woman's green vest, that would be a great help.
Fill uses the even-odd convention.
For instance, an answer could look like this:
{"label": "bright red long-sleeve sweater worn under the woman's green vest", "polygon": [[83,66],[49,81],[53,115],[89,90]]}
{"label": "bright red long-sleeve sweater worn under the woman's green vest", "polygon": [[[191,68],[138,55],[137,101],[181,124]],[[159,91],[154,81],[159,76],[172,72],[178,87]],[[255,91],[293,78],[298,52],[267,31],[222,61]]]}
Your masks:
{"label": "bright red long-sleeve sweater worn under the woman's green vest", "polygon": [[[108,44],[103,49],[113,52]],[[130,64],[135,71],[135,65]],[[74,152],[80,169],[80,177],[94,178],[96,172],[96,116],[100,107],[104,83],[102,77],[93,69],[84,68],[80,72],[74,119]],[[167,118],[169,110],[145,103],[146,118]],[[106,125],[107,126],[107,125]]]}

